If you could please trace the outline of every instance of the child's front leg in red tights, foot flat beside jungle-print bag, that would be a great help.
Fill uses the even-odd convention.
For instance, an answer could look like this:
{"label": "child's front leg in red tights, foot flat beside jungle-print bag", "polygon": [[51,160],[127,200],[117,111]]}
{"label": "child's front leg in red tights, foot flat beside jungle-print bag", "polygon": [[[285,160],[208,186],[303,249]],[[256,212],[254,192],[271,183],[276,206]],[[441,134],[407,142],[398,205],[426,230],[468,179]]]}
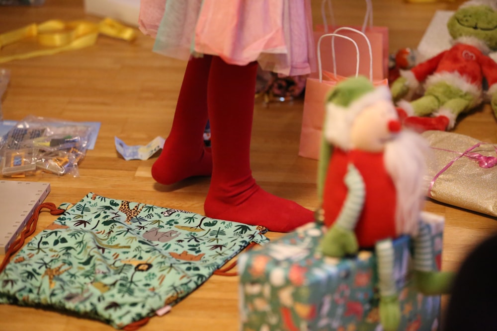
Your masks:
{"label": "child's front leg in red tights, foot flat beside jungle-print bag", "polygon": [[288,232],[314,219],[294,201],[262,190],[250,170],[250,137],[257,64],[228,65],[213,57],[208,84],[212,142],[212,178],[206,216],[270,231]]}

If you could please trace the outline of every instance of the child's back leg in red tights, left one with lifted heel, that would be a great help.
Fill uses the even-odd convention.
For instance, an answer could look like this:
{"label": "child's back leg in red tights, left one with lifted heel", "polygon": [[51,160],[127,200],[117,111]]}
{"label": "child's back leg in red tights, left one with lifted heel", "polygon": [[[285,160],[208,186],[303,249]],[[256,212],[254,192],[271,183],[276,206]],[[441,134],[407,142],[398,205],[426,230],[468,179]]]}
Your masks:
{"label": "child's back leg in red tights, left one with lifted heel", "polygon": [[207,124],[207,80],[211,56],[188,61],[171,131],[161,155],[152,165],[152,177],[170,185],[191,176],[210,176],[212,156],[204,145]]}

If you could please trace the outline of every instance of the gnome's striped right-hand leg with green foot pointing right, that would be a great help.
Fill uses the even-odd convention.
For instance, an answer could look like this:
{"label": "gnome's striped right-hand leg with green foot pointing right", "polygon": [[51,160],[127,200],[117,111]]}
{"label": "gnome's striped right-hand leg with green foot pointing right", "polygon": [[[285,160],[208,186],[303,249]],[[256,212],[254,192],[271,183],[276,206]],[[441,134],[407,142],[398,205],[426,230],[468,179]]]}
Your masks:
{"label": "gnome's striped right-hand leg with green foot pointing right", "polygon": [[426,295],[447,294],[454,280],[453,272],[433,270],[433,248],[428,225],[421,223],[414,239],[414,284]]}

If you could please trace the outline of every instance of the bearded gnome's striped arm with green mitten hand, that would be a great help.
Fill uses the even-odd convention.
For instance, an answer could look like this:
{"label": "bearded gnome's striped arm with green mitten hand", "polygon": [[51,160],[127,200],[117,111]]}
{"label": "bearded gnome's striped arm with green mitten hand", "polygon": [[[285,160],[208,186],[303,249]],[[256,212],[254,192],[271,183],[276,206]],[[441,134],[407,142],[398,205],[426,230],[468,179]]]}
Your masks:
{"label": "bearded gnome's striped arm with green mitten hand", "polygon": [[347,198],[320,246],[324,255],[336,258],[354,254],[359,250],[354,228],[362,212],[365,198],[362,176],[351,164],[348,166],[344,181],[348,188]]}

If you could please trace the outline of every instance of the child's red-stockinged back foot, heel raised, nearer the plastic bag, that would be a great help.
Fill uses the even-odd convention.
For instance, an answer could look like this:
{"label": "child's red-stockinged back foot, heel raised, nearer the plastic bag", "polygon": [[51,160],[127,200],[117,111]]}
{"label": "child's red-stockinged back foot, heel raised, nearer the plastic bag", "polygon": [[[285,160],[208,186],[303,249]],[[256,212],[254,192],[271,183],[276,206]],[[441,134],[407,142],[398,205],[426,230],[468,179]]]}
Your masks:
{"label": "child's red-stockinged back foot, heel raised, nearer the plastic bag", "polygon": [[152,177],[160,184],[171,185],[193,176],[212,174],[212,154],[208,147],[195,150],[172,148],[167,140],[159,158],[152,165]]}

